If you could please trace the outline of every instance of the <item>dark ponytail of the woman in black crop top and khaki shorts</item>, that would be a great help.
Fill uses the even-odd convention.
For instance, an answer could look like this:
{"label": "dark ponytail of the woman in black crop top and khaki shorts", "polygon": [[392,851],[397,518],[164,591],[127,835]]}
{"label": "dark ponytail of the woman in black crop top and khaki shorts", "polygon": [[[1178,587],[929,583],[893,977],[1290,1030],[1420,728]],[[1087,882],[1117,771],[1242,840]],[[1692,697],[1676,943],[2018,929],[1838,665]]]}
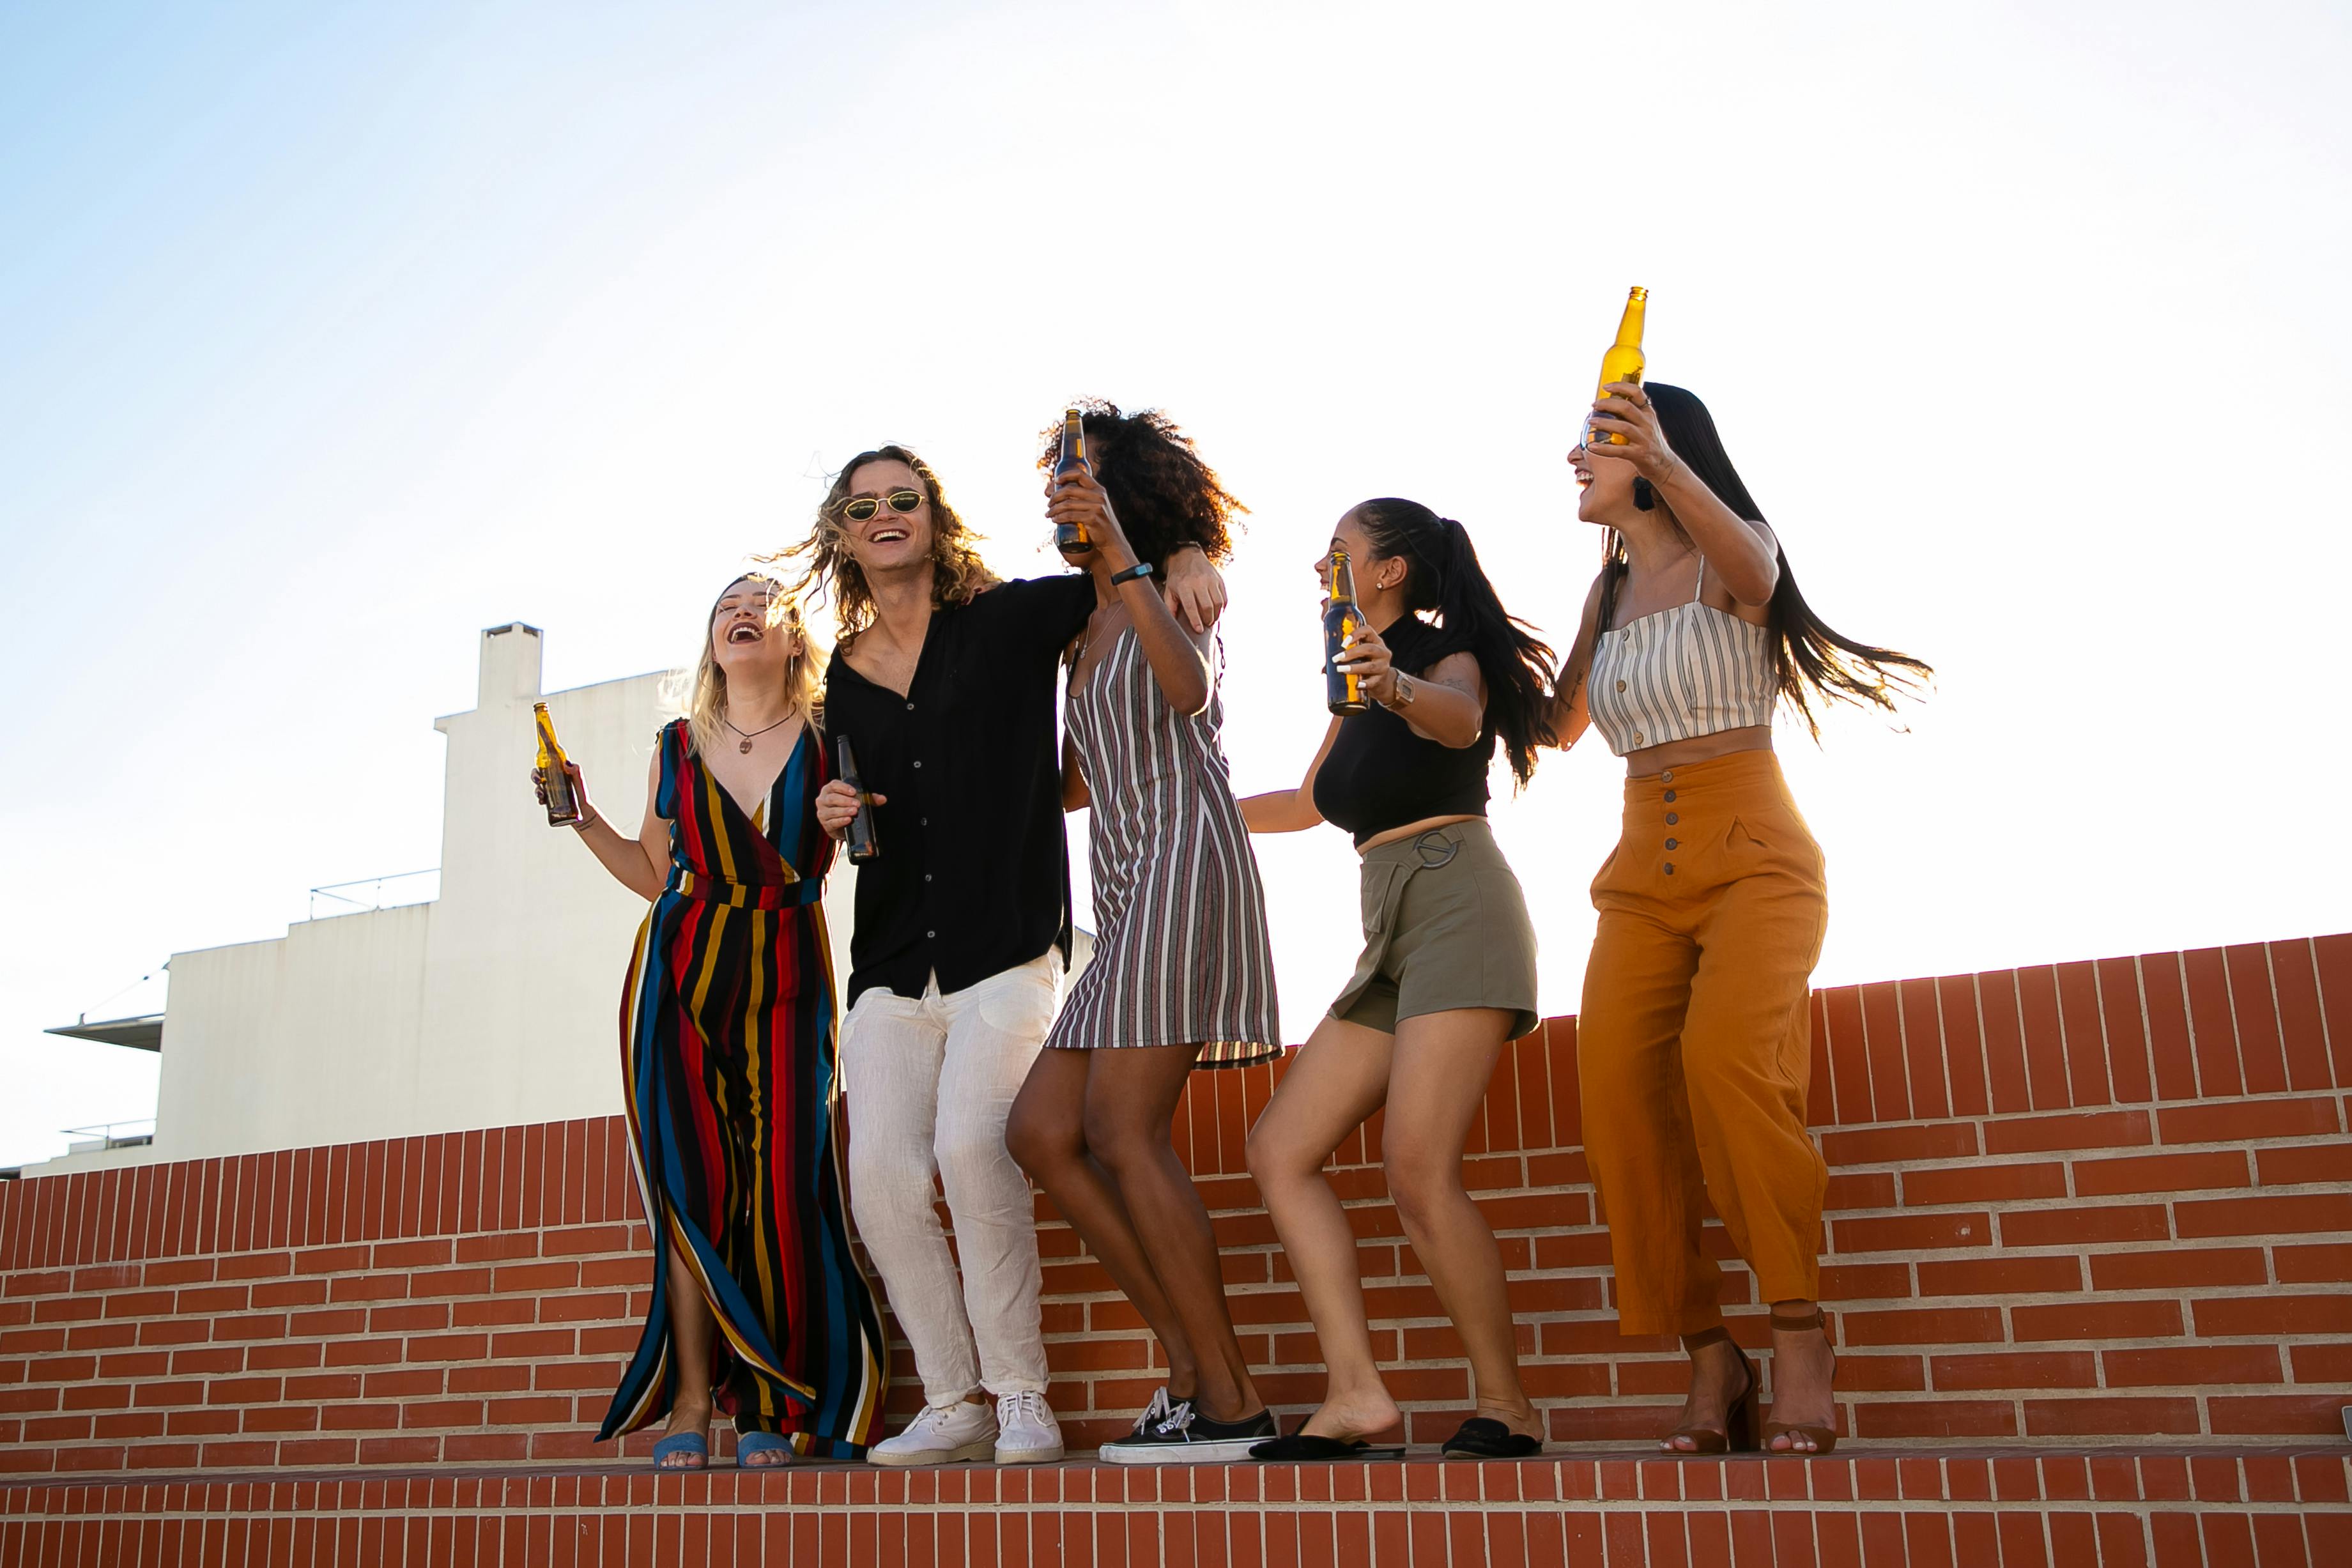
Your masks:
{"label": "dark ponytail of the woman in black crop top and khaki shorts", "polygon": [[1510,776],[1524,785],[1536,776],[1536,748],[1557,745],[1552,649],[1503,609],[1463,524],[1397,496],[1364,501],[1355,520],[1376,559],[1404,559],[1404,609],[1437,611],[1446,651],[1465,649],[1477,658],[1486,677],[1486,729],[1503,738]]}

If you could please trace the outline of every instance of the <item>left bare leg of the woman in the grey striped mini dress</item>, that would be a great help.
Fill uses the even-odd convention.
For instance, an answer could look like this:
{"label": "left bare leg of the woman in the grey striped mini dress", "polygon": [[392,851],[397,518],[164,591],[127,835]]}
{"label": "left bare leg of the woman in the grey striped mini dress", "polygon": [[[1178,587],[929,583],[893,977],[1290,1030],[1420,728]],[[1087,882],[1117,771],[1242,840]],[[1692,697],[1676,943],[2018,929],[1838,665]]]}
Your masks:
{"label": "left bare leg of the woman in the grey striped mini dress", "polygon": [[1040,1051],[1014,1098],[1004,1145],[1087,1244],[1110,1284],[1143,1314],[1169,1363],[1169,1396],[1200,1389],[1183,1321],[1152,1272],[1110,1175],[1087,1150],[1087,1060],[1094,1051]]}

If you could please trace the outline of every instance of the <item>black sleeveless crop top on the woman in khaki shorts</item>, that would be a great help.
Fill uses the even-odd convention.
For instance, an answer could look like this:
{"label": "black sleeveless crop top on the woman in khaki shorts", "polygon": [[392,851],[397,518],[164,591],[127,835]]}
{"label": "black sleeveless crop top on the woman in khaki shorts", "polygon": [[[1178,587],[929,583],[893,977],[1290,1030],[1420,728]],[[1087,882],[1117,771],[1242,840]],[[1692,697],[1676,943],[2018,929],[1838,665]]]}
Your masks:
{"label": "black sleeveless crop top on the woman in khaki shorts", "polygon": [[[1399,616],[1381,630],[1390,663],[1423,675],[1461,642],[1421,616]],[[1338,724],[1338,738],[1315,773],[1315,809],[1364,839],[1418,823],[1425,816],[1486,816],[1486,769],[1494,764],[1494,726],[1461,750],[1416,736],[1399,715],[1371,705]]]}

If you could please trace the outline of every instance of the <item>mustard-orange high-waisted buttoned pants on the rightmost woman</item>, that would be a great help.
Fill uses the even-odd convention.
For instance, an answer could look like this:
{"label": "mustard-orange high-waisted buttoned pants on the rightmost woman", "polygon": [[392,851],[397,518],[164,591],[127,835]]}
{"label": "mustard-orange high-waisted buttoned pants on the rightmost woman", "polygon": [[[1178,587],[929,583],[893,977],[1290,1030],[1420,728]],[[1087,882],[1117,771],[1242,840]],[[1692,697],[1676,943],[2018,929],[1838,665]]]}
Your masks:
{"label": "mustard-orange high-waisted buttoned pants on the rightmost woman", "polygon": [[1705,1204],[1762,1300],[1813,1300],[1828,1168],[1804,1088],[1830,903],[1778,759],[1733,752],[1628,778],[1625,832],[1592,905],[1576,1063],[1618,1331],[1722,1324]]}

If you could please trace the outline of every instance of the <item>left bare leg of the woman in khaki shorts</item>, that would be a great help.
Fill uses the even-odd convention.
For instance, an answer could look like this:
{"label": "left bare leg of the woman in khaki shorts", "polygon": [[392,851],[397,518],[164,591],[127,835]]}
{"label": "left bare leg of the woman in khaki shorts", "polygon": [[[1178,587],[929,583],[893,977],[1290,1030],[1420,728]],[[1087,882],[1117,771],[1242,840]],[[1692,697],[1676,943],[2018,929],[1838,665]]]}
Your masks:
{"label": "left bare leg of the woman in khaki shorts", "polygon": [[1331,1150],[1388,1098],[1392,1046],[1390,1034],[1324,1018],[1249,1131],[1249,1173],[1298,1276],[1327,1368],[1324,1401],[1301,1429],[1338,1441],[1385,1432],[1399,1420],[1371,1356],[1355,1232],[1322,1173]]}

